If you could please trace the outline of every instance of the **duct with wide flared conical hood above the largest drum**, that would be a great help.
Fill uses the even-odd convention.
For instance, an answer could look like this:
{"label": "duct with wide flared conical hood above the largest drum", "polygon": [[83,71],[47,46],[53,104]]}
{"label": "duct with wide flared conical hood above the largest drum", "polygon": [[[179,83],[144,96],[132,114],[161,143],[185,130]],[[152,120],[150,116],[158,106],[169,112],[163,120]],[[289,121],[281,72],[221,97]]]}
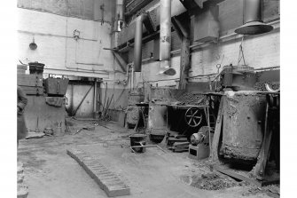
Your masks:
{"label": "duct with wide flared conical hood above the largest drum", "polygon": [[240,35],[259,35],[273,27],[262,21],[262,0],[244,0],[244,25],[235,29]]}

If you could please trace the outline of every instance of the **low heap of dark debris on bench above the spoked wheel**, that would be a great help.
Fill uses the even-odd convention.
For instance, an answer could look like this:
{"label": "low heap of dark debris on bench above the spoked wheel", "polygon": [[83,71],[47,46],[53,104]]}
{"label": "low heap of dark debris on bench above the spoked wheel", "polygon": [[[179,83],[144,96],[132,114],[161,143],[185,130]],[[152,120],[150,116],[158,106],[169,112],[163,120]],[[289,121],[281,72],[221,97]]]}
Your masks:
{"label": "low heap of dark debris on bench above the spoked wheel", "polygon": [[205,105],[207,103],[207,97],[200,93],[185,92],[177,100],[180,105]]}

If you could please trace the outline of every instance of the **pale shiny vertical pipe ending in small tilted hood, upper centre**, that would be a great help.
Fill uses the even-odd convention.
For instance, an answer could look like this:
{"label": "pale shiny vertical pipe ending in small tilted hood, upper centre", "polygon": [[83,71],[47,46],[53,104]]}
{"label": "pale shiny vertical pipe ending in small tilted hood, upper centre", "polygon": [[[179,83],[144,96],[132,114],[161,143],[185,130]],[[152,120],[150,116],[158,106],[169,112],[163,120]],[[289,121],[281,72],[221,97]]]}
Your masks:
{"label": "pale shiny vertical pipe ending in small tilted hood, upper centre", "polygon": [[176,75],[171,68],[171,0],[160,0],[160,72],[164,75]]}

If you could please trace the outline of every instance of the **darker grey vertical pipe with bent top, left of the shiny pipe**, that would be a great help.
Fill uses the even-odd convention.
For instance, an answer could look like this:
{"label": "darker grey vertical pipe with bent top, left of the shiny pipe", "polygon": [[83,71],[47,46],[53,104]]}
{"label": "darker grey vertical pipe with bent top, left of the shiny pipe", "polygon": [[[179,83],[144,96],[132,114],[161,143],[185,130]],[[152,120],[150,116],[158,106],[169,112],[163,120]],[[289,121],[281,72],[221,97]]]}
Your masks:
{"label": "darker grey vertical pipe with bent top, left of the shiny pipe", "polygon": [[143,44],[143,18],[144,18],[143,14],[137,17],[136,24],[135,24],[134,70],[136,72],[141,72],[142,44]]}

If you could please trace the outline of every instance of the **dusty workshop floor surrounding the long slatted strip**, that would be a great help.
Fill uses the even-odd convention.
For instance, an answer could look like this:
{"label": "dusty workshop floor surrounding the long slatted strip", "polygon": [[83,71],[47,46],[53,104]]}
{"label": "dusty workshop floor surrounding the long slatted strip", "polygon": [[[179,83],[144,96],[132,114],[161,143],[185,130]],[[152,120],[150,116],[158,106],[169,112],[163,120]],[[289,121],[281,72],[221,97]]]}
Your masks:
{"label": "dusty workshop floor surrounding the long slatted strip", "polygon": [[[107,123],[107,128],[99,125],[95,131],[81,131],[76,135],[78,129],[92,123],[71,123],[72,133],[63,137],[20,141],[18,157],[24,163],[28,198],[107,197],[66,154],[70,147],[81,148],[118,174],[130,186],[131,195],[126,197],[279,197],[278,186],[271,190],[239,183],[211,172],[206,161],[191,160],[187,153],[172,153],[167,149],[167,153],[163,153],[157,147],[150,147],[144,154],[133,154],[128,138],[133,131],[116,123]],[[201,183],[201,176],[215,179],[220,189],[206,190],[209,186]]]}

